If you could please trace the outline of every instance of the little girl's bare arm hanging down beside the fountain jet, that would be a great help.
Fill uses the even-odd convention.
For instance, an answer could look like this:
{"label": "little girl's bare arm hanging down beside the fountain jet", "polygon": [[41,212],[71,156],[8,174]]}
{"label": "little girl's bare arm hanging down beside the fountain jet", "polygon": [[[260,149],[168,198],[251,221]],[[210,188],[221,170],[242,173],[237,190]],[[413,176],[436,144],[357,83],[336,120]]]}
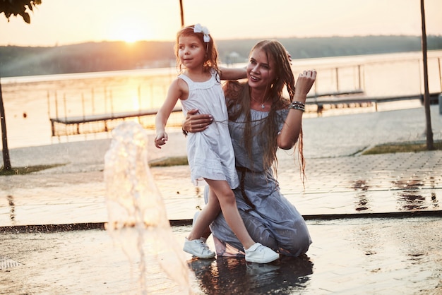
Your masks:
{"label": "little girl's bare arm hanging down beside the fountain jet", "polygon": [[169,119],[172,110],[177,104],[179,98],[182,97],[183,91],[180,88],[180,79],[174,80],[169,86],[167,91],[167,96],[165,102],[162,104],[160,109],[155,116],[155,130],[157,131],[157,136],[155,137],[155,147],[161,148],[161,145],[165,145],[168,136],[165,131],[167,119]]}

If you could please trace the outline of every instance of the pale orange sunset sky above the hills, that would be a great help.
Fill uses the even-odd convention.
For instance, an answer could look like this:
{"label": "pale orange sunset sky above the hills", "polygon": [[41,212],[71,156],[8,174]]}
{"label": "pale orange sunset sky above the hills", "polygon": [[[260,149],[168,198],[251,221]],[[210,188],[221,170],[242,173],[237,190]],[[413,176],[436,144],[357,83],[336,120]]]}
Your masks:
{"label": "pale orange sunset sky above the hills", "polygon": [[[420,35],[420,0],[183,0],[185,25],[216,40]],[[427,35],[442,35],[442,0],[425,0]],[[174,40],[179,0],[42,0],[31,24],[0,16],[0,45]]]}

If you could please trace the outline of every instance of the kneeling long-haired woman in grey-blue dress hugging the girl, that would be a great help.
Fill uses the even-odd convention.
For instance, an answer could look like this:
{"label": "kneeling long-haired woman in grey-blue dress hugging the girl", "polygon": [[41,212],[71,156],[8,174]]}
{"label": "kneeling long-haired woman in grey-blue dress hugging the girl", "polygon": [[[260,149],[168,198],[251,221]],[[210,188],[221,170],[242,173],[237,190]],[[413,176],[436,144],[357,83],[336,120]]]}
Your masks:
{"label": "kneeling long-haired woman in grey-blue dress hugging the girl", "polygon": [[[245,83],[227,82],[224,87],[240,179],[239,188],[234,190],[238,210],[254,241],[282,255],[298,256],[309,249],[309,231],[301,214],[280,193],[273,171],[277,148],[289,150],[298,143],[304,175],[301,120],[316,71],[301,73],[295,88],[285,48],[275,40],[263,40],[251,49],[246,72]],[[289,99],[282,96],[284,87]],[[203,131],[211,123],[210,115],[196,112],[188,113],[184,131]],[[244,248],[222,215],[210,230],[217,255],[244,255]]]}

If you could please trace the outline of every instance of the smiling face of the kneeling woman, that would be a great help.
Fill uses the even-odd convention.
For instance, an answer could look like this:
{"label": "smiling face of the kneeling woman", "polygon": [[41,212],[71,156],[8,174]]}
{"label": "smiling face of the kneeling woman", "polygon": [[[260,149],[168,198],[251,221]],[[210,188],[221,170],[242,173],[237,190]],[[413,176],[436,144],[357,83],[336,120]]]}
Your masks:
{"label": "smiling face of the kneeling woman", "polygon": [[246,72],[251,88],[269,89],[276,77],[275,62],[267,59],[263,49],[253,49]]}

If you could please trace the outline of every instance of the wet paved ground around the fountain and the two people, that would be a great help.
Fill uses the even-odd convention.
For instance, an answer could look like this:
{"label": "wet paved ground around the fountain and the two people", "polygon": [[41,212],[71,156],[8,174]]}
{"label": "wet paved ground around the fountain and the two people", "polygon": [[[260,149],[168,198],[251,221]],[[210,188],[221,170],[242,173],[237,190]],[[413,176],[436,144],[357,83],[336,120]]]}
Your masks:
{"label": "wet paved ground around the fountain and the two people", "polygon": [[[438,106],[431,119],[434,140],[442,140]],[[193,293],[441,294],[442,151],[361,155],[376,144],[425,142],[424,109],[306,118],[304,140],[305,188],[291,152],[278,155],[278,180],[307,221],[309,252],[269,265],[184,253]],[[13,166],[66,165],[0,177],[0,294],[138,292],[136,264],[102,230],[109,143],[11,150]],[[164,149],[149,147],[149,159],[185,155],[176,148],[184,145],[177,131]],[[203,206],[202,188],[186,166],[150,170],[181,245]],[[161,270],[148,284],[153,294],[177,292]]]}

